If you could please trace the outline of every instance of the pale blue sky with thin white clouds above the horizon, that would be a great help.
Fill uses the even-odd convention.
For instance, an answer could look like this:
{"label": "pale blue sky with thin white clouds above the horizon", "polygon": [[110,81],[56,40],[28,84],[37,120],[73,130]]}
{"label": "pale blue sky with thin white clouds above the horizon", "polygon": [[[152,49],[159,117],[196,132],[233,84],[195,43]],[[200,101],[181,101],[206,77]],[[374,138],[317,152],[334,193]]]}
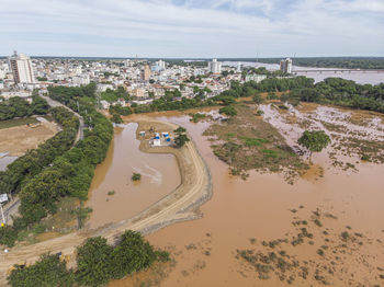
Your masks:
{"label": "pale blue sky with thin white clouds above the horizon", "polygon": [[0,0],[0,55],[384,56],[384,0]]}

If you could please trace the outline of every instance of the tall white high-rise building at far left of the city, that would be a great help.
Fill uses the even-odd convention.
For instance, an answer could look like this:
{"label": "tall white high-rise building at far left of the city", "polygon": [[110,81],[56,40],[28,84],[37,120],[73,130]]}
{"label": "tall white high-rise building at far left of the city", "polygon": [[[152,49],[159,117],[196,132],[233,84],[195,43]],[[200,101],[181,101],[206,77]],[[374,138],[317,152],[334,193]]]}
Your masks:
{"label": "tall white high-rise building at far left of the city", "polygon": [[9,57],[9,66],[13,73],[14,83],[34,83],[35,76],[33,72],[31,58],[24,54],[14,54]]}

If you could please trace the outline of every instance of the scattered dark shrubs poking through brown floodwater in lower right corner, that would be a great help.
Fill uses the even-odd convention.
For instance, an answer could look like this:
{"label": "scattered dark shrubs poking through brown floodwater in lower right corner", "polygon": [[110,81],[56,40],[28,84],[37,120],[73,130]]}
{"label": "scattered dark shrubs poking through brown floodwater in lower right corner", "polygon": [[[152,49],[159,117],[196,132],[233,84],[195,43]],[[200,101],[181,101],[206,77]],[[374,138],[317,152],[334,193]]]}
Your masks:
{"label": "scattered dark shrubs poking through brown floodwater in lower right corner", "polygon": [[[258,244],[257,240],[251,238],[251,248],[236,251],[236,257],[241,260],[245,266],[252,266],[251,269],[244,268],[242,272],[256,273],[262,280],[275,277],[290,285],[307,283],[309,286],[313,285],[312,280],[315,280],[319,285],[334,286],[338,285],[337,280],[345,283],[346,279],[351,286],[365,284],[366,282],[359,282],[361,278],[350,275],[353,268],[349,269],[349,266],[342,264],[343,260],[348,259],[350,262],[363,261],[361,267],[368,273],[374,272],[379,283],[381,278],[379,272],[382,269],[372,265],[376,254],[360,251],[364,244],[374,244],[381,249],[383,243],[380,240],[375,242],[359,232],[351,234],[348,231],[341,233],[332,231],[318,223],[320,218],[337,220],[337,217],[321,214],[317,209],[313,211],[312,220],[300,220],[296,215],[295,221],[292,221],[295,231],[286,233],[282,239],[259,240]],[[301,252],[294,252],[293,249],[302,250],[305,255],[302,256]],[[343,275],[346,279],[342,278]]]}

